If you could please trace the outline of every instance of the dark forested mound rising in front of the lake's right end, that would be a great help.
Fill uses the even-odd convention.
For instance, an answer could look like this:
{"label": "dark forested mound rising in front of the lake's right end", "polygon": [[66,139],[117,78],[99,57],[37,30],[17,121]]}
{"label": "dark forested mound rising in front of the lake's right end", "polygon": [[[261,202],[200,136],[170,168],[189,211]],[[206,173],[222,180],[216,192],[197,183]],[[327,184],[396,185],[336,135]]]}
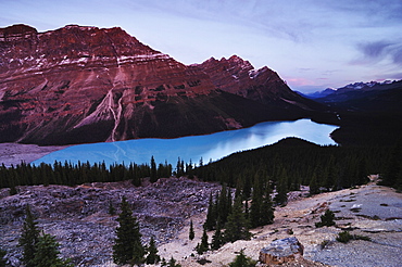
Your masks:
{"label": "dark forested mound rising in front of the lake's right end", "polygon": [[[219,181],[242,190],[247,196],[256,177],[264,176],[280,195],[311,186],[312,193],[340,190],[368,181],[367,175],[384,174],[389,147],[317,145],[288,138],[264,148],[238,152],[199,166],[193,174],[204,181]],[[265,182],[266,182],[265,181]],[[278,202],[286,202],[279,200]]]}

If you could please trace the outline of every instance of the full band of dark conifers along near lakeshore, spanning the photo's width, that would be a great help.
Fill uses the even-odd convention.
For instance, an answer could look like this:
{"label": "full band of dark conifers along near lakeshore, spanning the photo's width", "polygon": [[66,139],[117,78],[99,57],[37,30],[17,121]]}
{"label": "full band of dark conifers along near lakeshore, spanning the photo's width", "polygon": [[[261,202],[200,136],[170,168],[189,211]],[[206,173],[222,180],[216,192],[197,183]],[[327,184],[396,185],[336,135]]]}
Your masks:
{"label": "full band of dark conifers along near lakeshore, spanning the photo's width", "polygon": [[[167,162],[156,164],[153,156],[150,163],[136,164],[53,164],[0,166],[0,188],[14,189],[16,186],[64,185],[76,186],[87,182],[113,182],[131,180],[140,186],[141,179],[149,177],[151,182],[162,177],[188,176],[204,181],[219,181],[228,187],[240,189],[249,198],[255,177],[264,176],[273,190],[280,194],[278,202],[285,203],[289,190],[299,190],[301,185],[311,186],[312,193],[339,190],[367,181],[369,174],[384,174],[385,185],[402,185],[401,155],[398,148],[359,145],[317,145],[297,138],[288,138],[276,144],[238,152],[217,162],[196,167],[178,158],[175,168]],[[390,151],[397,151],[390,153]],[[393,167],[389,166],[392,160]],[[394,182],[395,180],[395,182]],[[266,182],[266,181],[265,181]],[[397,185],[398,183],[398,185]],[[400,186],[399,186],[400,187]],[[279,200],[282,196],[282,200]]]}

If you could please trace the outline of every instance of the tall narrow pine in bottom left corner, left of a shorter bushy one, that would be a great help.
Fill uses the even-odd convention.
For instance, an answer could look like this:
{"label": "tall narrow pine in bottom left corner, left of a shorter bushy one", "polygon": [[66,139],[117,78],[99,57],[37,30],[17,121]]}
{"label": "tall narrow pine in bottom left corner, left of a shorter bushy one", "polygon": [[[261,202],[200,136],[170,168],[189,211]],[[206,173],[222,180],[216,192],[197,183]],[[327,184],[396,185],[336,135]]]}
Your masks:
{"label": "tall narrow pine in bottom left corner, left of a shorter bushy one", "polygon": [[37,252],[37,243],[39,241],[39,230],[37,228],[34,215],[30,212],[29,205],[25,207],[25,221],[23,225],[23,231],[18,240],[18,246],[23,247],[22,262],[26,267],[35,267],[33,259]]}

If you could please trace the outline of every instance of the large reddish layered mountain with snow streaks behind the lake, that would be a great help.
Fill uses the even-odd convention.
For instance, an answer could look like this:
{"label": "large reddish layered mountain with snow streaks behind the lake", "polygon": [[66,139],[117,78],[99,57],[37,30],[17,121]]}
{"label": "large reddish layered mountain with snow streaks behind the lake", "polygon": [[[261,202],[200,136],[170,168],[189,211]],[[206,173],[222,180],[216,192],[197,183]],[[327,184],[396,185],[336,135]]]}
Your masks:
{"label": "large reddish layered mountain with snow streaks behind the lake", "polygon": [[0,142],[173,138],[311,117],[306,100],[239,56],[186,66],[122,28],[0,28]]}

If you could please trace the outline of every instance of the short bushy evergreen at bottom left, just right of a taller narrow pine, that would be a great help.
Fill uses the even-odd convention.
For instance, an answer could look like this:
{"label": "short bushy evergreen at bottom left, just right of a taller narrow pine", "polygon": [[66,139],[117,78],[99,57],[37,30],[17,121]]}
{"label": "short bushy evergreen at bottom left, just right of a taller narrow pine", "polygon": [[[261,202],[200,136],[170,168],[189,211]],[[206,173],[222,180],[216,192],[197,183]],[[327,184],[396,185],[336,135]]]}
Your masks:
{"label": "short bushy evergreen at bottom left, just right of a taller narrow pine", "polygon": [[70,260],[59,257],[59,243],[53,236],[42,233],[37,243],[37,251],[33,259],[35,267],[73,267]]}

